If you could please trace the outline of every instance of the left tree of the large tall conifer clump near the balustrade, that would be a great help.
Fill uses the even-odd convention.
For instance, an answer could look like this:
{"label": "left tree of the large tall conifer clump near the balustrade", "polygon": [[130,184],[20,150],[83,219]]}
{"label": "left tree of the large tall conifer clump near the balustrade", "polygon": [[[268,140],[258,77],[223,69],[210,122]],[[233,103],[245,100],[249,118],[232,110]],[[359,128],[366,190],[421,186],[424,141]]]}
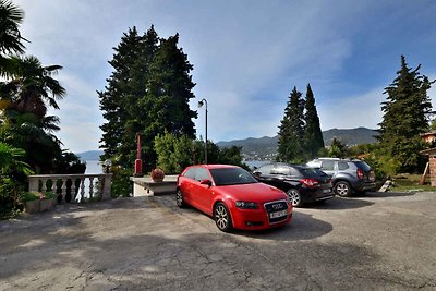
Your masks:
{"label": "left tree of the large tall conifer clump near the balustrade", "polygon": [[[140,131],[142,116],[130,112],[132,107],[138,107],[138,99],[144,95],[145,82],[137,82],[138,60],[142,57],[142,39],[136,27],[129,28],[121,37],[120,44],[113,48],[114,54],[109,64],[113,72],[107,78],[105,90],[98,92],[100,110],[107,122],[100,129],[102,159],[116,157],[119,163],[129,165],[134,151],[135,135]],[[147,62],[143,62],[144,65]],[[146,72],[144,72],[146,74]],[[138,88],[136,87],[138,86]]]}

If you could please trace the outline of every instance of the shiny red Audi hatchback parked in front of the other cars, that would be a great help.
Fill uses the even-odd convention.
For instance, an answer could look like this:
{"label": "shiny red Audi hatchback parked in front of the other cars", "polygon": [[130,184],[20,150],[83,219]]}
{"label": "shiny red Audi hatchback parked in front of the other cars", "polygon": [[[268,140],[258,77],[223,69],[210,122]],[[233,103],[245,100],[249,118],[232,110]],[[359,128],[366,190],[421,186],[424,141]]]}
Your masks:
{"label": "shiny red Audi hatchback parked in front of the other cars", "polygon": [[189,204],[214,217],[219,230],[267,229],[291,221],[287,194],[229,165],[187,167],[178,178],[177,205]]}

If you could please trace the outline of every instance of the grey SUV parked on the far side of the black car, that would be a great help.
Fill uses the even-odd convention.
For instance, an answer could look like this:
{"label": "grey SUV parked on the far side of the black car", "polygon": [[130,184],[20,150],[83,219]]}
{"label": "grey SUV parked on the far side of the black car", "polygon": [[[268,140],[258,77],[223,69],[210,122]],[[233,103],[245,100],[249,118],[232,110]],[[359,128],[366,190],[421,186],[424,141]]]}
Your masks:
{"label": "grey SUV parked on the far side of the black car", "polygon": [[334,190],[339,196],[348,197],[353,193],[376,190],[375,173],[363,160],[316,158],[307,166],[319,168],[331,177]]}

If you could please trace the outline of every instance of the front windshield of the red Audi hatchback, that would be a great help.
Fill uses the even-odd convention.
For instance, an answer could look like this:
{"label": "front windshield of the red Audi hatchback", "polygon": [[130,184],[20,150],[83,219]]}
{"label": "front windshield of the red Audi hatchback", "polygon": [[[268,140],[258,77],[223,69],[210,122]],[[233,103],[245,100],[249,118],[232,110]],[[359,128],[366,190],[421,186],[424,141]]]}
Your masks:
{"label": "front windshield of the red Audi hatchback", "polygon": [[251,173],[241,168],[211,169],[210,174],[217,186],[257,183]]}

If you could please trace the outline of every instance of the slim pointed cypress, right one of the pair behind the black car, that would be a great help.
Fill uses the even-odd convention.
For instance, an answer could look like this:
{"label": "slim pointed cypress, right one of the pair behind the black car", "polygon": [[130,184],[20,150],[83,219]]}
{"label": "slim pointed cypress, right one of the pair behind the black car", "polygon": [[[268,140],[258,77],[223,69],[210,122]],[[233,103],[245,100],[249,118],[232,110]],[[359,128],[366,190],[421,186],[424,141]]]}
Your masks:
{"label": "slim pointed cypress, right one of the pair behind the black car", "polygon": [[308,158],[314,158],[319,149],[324,148],[324,138],[311,84],[307,84],[304,121],[305,149]]}

